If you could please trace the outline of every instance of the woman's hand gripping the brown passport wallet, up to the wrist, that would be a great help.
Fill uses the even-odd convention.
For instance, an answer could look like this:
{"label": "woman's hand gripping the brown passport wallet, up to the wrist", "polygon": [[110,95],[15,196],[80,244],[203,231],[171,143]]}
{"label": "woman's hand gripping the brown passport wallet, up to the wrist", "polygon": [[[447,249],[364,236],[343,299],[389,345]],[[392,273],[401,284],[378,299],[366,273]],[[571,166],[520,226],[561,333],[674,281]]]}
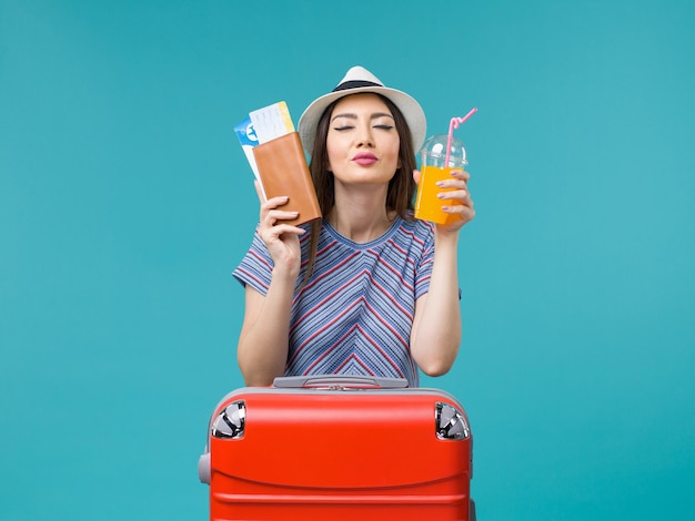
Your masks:
{"label": "woman's hand gripping the brown passport wallet, up to the wrist", "polygon": [[289,201],[286,196],[271,197],[265,201],[259,182],[254,181],[253,184],[261,202],[259,235],[270,252],[275,269],[286,270],[288,274],[296,276],[300,272],[302,256],[299,237],[306,231],[283,223],[283,219],[292,219],[298,216],[298,212],[281,210],[281,206]]}

